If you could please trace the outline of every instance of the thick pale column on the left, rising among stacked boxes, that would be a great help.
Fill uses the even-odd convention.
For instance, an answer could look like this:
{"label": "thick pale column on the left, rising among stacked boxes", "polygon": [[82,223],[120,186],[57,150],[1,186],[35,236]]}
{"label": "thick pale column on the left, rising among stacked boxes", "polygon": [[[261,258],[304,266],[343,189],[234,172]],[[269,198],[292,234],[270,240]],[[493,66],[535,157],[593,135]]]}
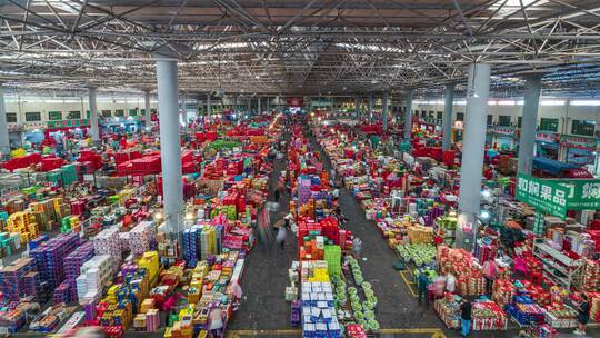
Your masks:
{"label": "thick pale column on the left, rising among stacked boxes", "polygon": [[[157,60],[157,84],[164,221],[171,238],[180,240],[183,231],[183,183],[179,142],[177,61]],[[178,251],[181,257],[181,250]]]}

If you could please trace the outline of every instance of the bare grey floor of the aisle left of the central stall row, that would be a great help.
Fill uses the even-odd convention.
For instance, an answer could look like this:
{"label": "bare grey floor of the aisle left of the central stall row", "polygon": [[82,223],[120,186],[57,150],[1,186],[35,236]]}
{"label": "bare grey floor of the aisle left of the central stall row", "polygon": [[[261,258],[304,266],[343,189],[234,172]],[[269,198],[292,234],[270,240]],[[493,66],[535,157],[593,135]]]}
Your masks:
{"label": "bare grey floor of the aisle left of the central stall row", "polygon": [[[288,138],[289,139],[289,138]],[[273,201],[273,189],[281,170],[287,169],[287,157],[276,160],[269,187],[269,200]],[[282,193],[280,211],[271,212],[271,223],[289,212],[289,195]],[[274,238],[274,233],[272,236]],[[288,231],[283,251],[273,241],[258,243],[248,255],[243,271],[244,299],[233,315],[228,329],[284,329],[290,328],[290,304],[284,299],[288,286],[288,269],[298,252],[298,243]]]}

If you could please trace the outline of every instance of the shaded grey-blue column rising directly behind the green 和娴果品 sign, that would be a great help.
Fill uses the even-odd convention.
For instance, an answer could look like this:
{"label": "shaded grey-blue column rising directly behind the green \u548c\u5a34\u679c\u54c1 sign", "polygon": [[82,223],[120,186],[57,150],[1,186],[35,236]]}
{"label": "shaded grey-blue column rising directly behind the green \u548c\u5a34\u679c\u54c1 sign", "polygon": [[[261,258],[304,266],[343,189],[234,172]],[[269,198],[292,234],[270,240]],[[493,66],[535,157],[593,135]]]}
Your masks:
{"label": "shaded grey-blue column rising directly behind the green \u548c\u5a34\u679c\u54c1 sign", "polygon": [[519,173],[531,175],[531,168],[533,166],[541,77],[541,74],[530,74],[526,77],[523,119],[521,121],[521,137],[519,139]]}

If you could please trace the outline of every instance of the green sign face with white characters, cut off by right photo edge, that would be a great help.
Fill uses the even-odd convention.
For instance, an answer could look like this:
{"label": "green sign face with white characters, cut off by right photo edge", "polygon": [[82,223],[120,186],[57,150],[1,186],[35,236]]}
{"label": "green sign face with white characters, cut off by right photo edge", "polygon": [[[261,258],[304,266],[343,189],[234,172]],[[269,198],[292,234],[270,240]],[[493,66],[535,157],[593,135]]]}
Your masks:
{"label": "green sign face with white characters, cut off by right photo edge", "polygon": [[557,181],[569,189],[568,210],[600,210],[600,179]]}

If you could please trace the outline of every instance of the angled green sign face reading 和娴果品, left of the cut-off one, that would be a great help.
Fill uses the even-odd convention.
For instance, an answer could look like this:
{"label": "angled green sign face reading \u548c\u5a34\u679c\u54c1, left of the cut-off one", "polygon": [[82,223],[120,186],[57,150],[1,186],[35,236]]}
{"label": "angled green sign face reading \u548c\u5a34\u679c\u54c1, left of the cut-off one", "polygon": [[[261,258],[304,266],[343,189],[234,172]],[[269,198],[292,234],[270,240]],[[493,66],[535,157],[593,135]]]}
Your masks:
{"label": "angled green sign face reading \u548c\u5a34\u679c\u54c1, left of the cut-off one", "polygon": [[564,218],[568,196],[569,188],[567,187],[519,173],[517,199],[539,211]]}

